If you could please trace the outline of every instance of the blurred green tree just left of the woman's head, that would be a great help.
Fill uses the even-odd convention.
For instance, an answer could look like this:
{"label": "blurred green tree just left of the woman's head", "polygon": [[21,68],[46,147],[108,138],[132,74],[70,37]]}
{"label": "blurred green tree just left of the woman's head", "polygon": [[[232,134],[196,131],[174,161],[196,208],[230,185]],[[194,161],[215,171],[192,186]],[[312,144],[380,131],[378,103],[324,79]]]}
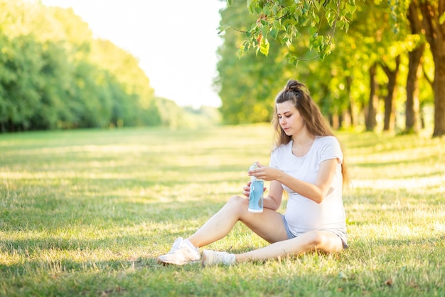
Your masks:
{"label": "blurred green tree just left of the woman's head", "polygon": [[215,84],[223,105],[220,112],[227,124],[269,122],[272,115],[271,94],[282,88],[282,73],[286,63],[282,63],[282,52],[279,43],[272,41],[274,49],[269,57],[245,53],[240,59],[233,50],[242,41],[240,31],[246,30],[253,17],[241,2],[221,12],[221,24],[227,29],[224,32],[224,43],[218,49],[222,57],[218,63],[220,73]]}

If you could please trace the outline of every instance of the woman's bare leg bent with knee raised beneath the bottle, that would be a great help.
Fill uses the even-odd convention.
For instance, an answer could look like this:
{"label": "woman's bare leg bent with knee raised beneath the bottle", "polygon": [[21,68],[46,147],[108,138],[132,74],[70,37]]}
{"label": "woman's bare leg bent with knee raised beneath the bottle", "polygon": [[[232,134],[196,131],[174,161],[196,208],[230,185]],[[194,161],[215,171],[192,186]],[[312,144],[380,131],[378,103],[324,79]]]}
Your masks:
{"label": "woman's bare leg bent with knee raised beneath the bottle", "polygon": [[260,214],[248,212],[248,201],[233,196],[219,212],[188,238],[196,247],[206,246],[229,234],[238,221],[269,242],[287,239],[282,215],[272,209]]}

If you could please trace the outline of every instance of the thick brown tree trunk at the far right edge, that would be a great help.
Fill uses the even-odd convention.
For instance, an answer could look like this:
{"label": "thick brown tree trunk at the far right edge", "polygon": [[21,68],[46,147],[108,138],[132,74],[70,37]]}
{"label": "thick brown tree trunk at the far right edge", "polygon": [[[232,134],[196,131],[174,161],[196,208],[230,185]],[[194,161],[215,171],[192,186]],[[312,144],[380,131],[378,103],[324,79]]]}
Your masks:
{"label": "thick brown tree trunk at the far right edge", "polygon": [[434,132],[445,135],[445,22],[439,18],[445,11],[445,0],[424,0],[418,4],[422,25],[434,60]]}

